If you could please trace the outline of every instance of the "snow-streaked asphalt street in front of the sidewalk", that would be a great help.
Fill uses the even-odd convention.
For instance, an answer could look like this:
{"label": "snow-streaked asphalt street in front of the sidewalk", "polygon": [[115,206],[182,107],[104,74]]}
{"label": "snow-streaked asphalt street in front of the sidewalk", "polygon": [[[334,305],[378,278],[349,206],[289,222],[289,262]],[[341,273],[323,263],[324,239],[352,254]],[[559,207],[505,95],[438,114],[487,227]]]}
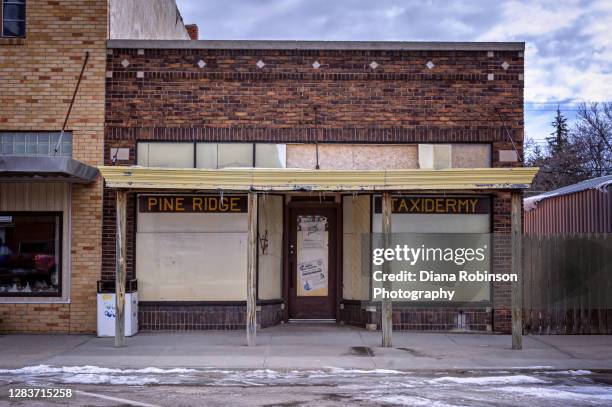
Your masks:
{"label": "snow-streaked asphalt street in front of the sidewalk", "polygon": [[[0,377],[0,405],[28,407],[612,405],[609,371],[189,369],[153,373],[81,368]],[[73,397],[8,396],[10,389],[36,387],[70,389]]]}

